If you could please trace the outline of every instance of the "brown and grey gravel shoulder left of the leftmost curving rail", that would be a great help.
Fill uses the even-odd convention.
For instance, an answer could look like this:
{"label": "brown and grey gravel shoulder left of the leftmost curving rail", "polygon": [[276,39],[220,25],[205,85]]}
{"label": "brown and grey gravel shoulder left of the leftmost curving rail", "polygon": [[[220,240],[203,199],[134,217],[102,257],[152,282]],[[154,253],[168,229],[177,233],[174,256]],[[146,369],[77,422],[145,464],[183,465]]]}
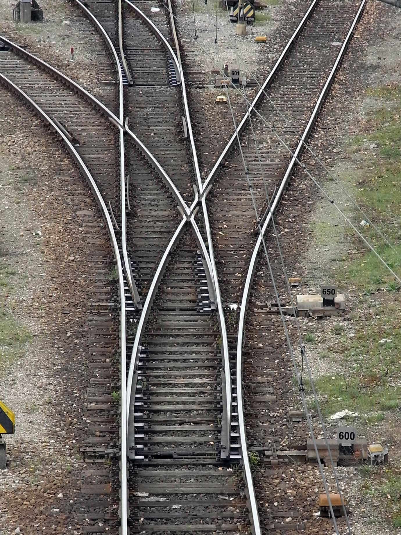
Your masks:
{"label": "brown and grey gravel shoulder left of the leftmost curving rail", "polygon": [[[16,433],[5,437],[0,532],[80,533],[87,467],[80,451],[94,434],[90,355],[102,345],[88,323],[98,300],[88,225],[111,260],[98,259],[99,276],[113,256],[72,158],[32,112],[0,93],[0,384],[16,415]],[[118,351],[115,319],[109,330]]]}

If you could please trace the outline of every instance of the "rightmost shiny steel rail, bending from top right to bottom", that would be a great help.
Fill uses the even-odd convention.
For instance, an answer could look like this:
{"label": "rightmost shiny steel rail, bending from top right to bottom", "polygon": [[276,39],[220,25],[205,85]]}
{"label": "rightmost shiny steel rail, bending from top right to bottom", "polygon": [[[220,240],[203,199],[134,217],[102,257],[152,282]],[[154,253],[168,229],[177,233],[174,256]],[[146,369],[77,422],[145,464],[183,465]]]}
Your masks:
{"label": "rightmost shiny steel rail, bending from top right to bottom", "polygon": [[[257,506],[257,503],[256,503],[255,490],[253,488],[252,472],[251,472],[251,467],[250,467],[249,458],[248,458],[248,448],[246,447],[246,435],[245,435],[246,429],[245,429],[245,424],[244,424],[244,409],[243,409],[242,386],[241,386],[242,385],[242,341],[243,341],[243,332],[244,332],[244,324],[245,324],[245,314],[246,314],[246,309],[248,307],[252,280],[253,280],[253,276],[255,274],[255,269],[256,269],[256,264],[257,264],[257,257],[258,257],[258,252],[259,252],[260,245],[262,243],[262,237],[264,236],[267,227],[271,223],[271,220],[272,220],[272,217],[274,215],[274,212],[276,211],[276,209],[277,209],[277,207],[278,207],[278,205],[280,203],[282,194],[283,194],[284,190],[287,187],[290,175],[291,175],[292,171],[294,170],[295,164],[298,163],[302,167],[305,167],[304,164],[301,164],[299,162],[298,156],[299,156],[300,152],[302,152],[302,149],[304,147],[304,143],[305,143],[305,141],[307,140],[307,138],[309,137],[309,135],[310,135],[310,133],[312,131],[312,127],[314,125],[314,121],[316,120],[317,115],[318,115],[318,113],[320,111],[320,108],[321,108],[323,102],[325,101],[325,98],[327,96],[327,92],[328,92],[328,90],[329,90],[329,88],[331,86],[331,83],[333,82],[333,78],[334,78],[335,72],[337,70],[338,65],[340,65],[342,56],[343,56],[344,51],[345,51],[345,49],[346,49],[346,47],[347,47],[347,45],[349,43],[349,40],[351,38],[353,29],[354,29],[355,25],[357,24],[357,22],[359,20],[359,17],[360,17],[360,14],[361,14],[362,10],[364,9],[365,2],[366,2],[366,0],[363,0],[363,2],[360,4],[359,10],[358,10],[358,12],[356,14],[356,17],[354,18],[354,20],[352,22],[351,28],[350,28],[347,36],[345,37],[344,43],[343,43],[343,45],[341,47],[340,52],[338,53],[338,56],[337,56],[336,61],[334,63],[334,66],[330,71],[330,74],[329,74],[329,76],[327,78],[325,86],[323,87],[323,89],[322,89],[322,91],[321,91],[321,93],[319,95],[319,98],[318,98],[318,100],[317,100],[317,102],[316,102],[316,104],[314,106],[313,112],[311,114],[311,117],[310,117],[307,125],[306,125],[304,133],[303,133],[303,135],[302,135],[302,137],[301,137],[301,139],[300,139],[300,141],[299,141],[299,143],[297,145],[297,148],[296,148],[296,150],[294,152],[294,155],[292,155],[290,164],[289,164],[289,166],[287,168],[286,173],[284,174],[284,177],[283,177],[283,179],[281,181],[280,187],[277,190],[277,193],[274,196],[273,202],[270,205],[270,210],[269,210],[269,212],[267,214],[267,217],[266,217],[265,223],[263,224],[263,227],[260,229],[258,240],[256,242],[255,248],[253,249],[251,261],[250,261],[249,268],[248,268],[248,273],[246,274],[244,292],[243,292],[242,301],[241,301],[240,322],[238,324],[236,380],[237,380],[238,423],[240,424],[241,448],[242,448],[243,460],[244,460],[246,484],[248,486],[249,499],[250,499],[250,504],[251,504],[251,508],[252,508],[252,518],[254,519],[254,521],[255,521],[255,518],[258,518],[258,506]],[[255,523],[254,523],[254,526],[255,526]],[[256,526],[255,526],[255,528],[256,528]],[[260,532],[260,526],[258,526],[258,529],[255,529],[255,535],[260,535],[260,533],[261,533]]]}

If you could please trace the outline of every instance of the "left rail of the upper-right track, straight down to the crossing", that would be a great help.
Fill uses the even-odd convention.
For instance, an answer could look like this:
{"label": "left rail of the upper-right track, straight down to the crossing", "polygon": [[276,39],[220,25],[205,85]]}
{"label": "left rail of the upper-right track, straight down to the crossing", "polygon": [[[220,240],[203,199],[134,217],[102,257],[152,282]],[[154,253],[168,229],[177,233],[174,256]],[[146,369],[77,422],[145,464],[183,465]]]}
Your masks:
{"label": "left rail of the upper-right track, straight down to the crossing", "polygon": [[238,124],[238,126],[236,128],[236,131],[231,136],[231,138],[230,138],[229,142],[227,143],[226,147],[222,150],[221,155],[217,159],[216,163],[213,166],[213,169],[211,170],[211,172],[209,173],[209,176],[207,177],[207,179],[204,182],[203,190],[202,190],[202,193],[200,195],[201,198],[203,198],[203,196],[205,195],[205,191],[212,184],[212,181],[214,180],[215,176],[217,175],[217,172],[219,170],[220,165],[225,161],[225,159],[228,156],[228,153],[230,152],[230,150],[233,148],[234,144],[236,143],[237,135],[239,135],[242,132],[242,130],[243,130],[245,124],[246,124],[246,121],[248,120],[249,114],[251,113],[251,111],[253,109],[255,109],[255,106],[259,103],[261,98],[263,98],[263,94],[265,93],[265,90],[267,89],[267,87],[272,82],[272,80],[274,78],[274,75],[277,73],[277,71],[281,67],[282,63],[284,62],[284,59],[286,59],[286,56],[287,56],[290,48],[292,47],[292,45],[294,44],[295,40],[299,36],[300,32],[302,32],[307,20],[309,19],[312,11],[314,10],[314,8],[316,7],[318,2],[319,2],[319,0],[313,0],[311,5],[307,9],[306,13],[304,14],[303,19],[299,22],[298,27],[296,28],[295,32],[291,35],[290,39],[288,40],[288,43],[286,44],[286,46],[284,47],[283,51],[281,52],[279,59],[277,59],[274,67],[272,68],[272,71],[269,73],[268,77],[266,78],[265,82],[263,83],[263,86],[261,86],[261,88],[259,89],[256,97],[253,99],[252,104],[250,104],[250,106],[248,108],[248,111],[246,111],[246,113],[244,114],[244,117],[241,119],[240,124]]}

